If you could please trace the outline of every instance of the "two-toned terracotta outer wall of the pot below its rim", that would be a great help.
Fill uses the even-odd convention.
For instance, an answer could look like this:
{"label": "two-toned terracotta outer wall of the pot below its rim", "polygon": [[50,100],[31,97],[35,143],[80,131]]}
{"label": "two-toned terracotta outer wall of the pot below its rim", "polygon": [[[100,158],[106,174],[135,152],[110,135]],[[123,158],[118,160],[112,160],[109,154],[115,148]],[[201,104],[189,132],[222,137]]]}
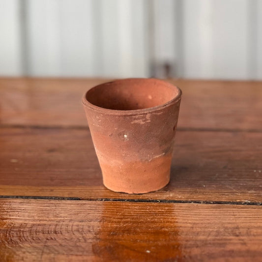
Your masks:
{"label": "two-toned terracotta outer wall of the pot below its rim", "polygon": [[84,105],[104,185],[147,193],[169,183],[180,99],[151,112],[119,114]]}

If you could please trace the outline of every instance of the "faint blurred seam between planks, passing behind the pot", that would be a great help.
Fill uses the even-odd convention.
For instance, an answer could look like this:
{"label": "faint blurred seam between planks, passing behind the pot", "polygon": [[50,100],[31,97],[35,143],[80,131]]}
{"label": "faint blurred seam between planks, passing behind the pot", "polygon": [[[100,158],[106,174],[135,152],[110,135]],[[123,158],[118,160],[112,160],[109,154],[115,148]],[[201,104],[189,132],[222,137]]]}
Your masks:
{"label": "faint blurred seam between planks, passing behind the pot", "polygon": [[[29,129],[80,129],[89,130],[84,125],[19,125],[19,124],[0,124],[0,128],[29,128]],[[262,129],[238,129],[238,128],[205,128],[205,127],[177,127],[177,131],[201,131],[201,132],[248,132],[262,133]]]}

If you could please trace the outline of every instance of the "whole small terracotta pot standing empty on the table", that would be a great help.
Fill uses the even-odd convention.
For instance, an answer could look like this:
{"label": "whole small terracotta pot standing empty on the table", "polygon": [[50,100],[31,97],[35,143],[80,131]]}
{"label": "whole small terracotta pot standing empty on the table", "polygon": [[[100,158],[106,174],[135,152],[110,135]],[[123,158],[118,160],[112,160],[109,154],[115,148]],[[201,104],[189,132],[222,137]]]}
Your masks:
{"label": "whole small terracotta pot standing empty on the table", "polygon": [[170,167],[181,90],[158,79],[123,79],[83,98],[104,185],[116,192],[163,188]]}

